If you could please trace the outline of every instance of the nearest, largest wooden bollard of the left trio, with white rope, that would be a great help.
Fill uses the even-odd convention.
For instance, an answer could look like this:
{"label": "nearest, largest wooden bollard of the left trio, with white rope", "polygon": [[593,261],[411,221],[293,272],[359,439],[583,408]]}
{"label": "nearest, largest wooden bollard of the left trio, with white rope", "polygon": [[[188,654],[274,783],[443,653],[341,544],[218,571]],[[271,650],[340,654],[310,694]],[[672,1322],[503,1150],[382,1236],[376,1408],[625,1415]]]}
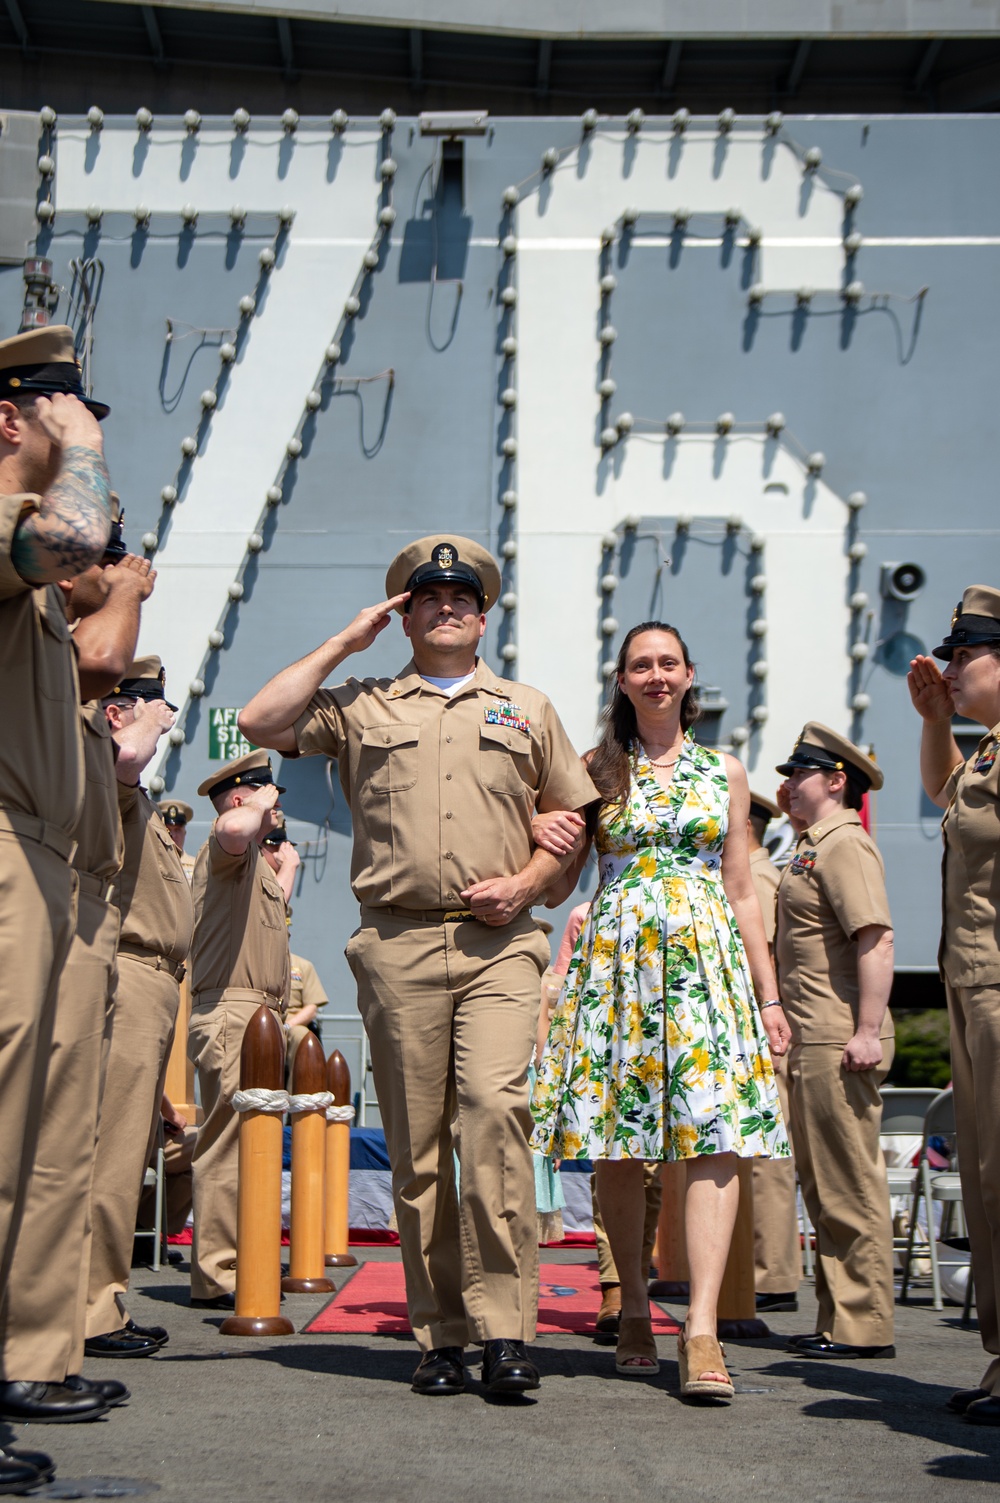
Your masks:
{"label": "nearest, largest wooden bollard of the left trio, with white rope", "polygon": [[[241,1090],[280,1091],[284,1037],[263,1004],[253,1015],[239,1051]],[[241,1112],[239,1202],[236,1211],[236,1314],[223,1336],[290,1336],[295,1326],[281,1303],[281,1117]]]}

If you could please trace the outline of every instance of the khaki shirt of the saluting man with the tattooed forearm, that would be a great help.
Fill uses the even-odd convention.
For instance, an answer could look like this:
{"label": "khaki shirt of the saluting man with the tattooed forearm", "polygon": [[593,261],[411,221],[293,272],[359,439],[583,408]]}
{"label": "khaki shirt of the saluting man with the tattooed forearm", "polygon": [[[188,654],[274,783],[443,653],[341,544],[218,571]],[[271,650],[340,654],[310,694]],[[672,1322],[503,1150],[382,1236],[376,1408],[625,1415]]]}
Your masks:
{"label": "khaki shirt of the saluting man with the tattooed forearm", "polygon": [[62,595],[33,589],[11,561],[18,522],[38,496],[0,496],[0,809],[72,836],[83,806],[77,657]]}

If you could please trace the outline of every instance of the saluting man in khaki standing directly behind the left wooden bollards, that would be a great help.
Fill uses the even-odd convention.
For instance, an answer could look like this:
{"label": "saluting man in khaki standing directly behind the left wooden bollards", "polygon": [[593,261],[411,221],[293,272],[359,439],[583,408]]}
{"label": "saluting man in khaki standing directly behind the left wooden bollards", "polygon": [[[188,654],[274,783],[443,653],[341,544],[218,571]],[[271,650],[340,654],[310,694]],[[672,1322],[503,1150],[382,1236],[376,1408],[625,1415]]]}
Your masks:
{"label": "saluting man in khaki standing directly behind the left wooden bollards", "polygon": [[227,762],[198,788],[218,819],[194,867],[188,1055],[198,1072],[205,1120],[194,1150],[191,1303],[235,1309],[239,1051],[262,1003],[284,1018],[289,999],[286,903],[260,843],[281,819],[266,752]]}

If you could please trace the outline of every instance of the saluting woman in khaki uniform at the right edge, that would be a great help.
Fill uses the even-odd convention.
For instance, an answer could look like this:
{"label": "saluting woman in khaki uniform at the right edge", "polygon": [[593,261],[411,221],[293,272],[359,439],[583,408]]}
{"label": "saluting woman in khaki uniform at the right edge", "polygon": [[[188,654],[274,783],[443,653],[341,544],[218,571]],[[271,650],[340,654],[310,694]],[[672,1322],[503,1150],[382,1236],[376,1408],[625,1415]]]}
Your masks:
{"label": "saluting woman in khaki uniform at the right edge", "polygon": [[[979,1386],[947,1401],[977,1425],[1000,1425],[1000,589],[971,585],[934,657],[910,667],[923,718],[920,777],[944,810],[944,926],[938,963],[952,1022],[958,1171],[989,1356]],[[962,762],[952,715],[989,726]]]}

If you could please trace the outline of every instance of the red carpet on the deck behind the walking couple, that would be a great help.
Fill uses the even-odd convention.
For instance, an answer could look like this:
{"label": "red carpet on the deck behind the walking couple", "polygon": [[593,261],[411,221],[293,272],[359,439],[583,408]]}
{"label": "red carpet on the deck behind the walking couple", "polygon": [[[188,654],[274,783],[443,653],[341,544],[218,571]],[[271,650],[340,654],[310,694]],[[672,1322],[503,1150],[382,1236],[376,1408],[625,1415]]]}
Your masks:
{"label": "red carpet on the deck behind the walking couple", "polygon": [[[588,1263],[543,1263],[538,1288],[538,1335],[591,1335],[600,1305],[597,1269]],[[650,1306],[653,1330],[671,1336],[677,1321]],[[305,1327],[307,1335],[405,1336],[406,1287],[398,1263],[364,1263]]]}

